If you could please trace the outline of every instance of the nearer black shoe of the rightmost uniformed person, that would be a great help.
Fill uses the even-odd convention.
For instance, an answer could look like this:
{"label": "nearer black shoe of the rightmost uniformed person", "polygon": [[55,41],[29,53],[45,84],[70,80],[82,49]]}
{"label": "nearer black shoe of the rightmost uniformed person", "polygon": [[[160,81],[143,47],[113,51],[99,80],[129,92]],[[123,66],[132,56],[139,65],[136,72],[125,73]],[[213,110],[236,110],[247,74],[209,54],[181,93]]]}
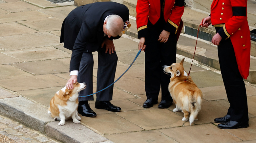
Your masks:
{"label": "nearer black shoe of the rightmost uniformed person", "polygon": [[247,122],[237,122],[237,121],[228,121],[226,123],[221,123],[218,125],[221,129],[238,129],[238,128],[247,128],[249,123]]}

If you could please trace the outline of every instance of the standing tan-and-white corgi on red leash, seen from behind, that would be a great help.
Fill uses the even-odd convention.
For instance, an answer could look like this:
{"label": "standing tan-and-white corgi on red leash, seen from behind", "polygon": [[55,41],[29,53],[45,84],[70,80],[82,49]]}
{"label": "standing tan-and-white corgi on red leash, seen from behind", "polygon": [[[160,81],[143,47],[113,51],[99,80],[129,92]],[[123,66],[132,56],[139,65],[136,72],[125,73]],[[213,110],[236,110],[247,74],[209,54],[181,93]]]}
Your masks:
{"label": "standing tan-and-white corgi on red leash, seen from behind", "polygon": [[163,66],[163,71],[171,75],[168,89],[176,105],[173,112],[182,111],[184,114],[182,121],[187,121],[190,114],[191,125],[194,120],[197,120],[197,115],[201,110],[203,93],[184,70],[183,62],[184,58],[180,63]]}

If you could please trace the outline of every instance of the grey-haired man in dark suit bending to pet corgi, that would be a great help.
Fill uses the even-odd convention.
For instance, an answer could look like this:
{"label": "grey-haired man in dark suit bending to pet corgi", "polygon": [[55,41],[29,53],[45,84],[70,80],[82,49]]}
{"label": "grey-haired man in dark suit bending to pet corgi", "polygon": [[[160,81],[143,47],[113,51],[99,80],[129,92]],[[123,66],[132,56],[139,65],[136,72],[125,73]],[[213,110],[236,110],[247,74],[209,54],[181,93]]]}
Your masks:
{"label": "grey-haired man in dark suit bending to pet corgi", "polygon": [[[72,10],[65,18],[61,28],[60,43],[72,50],[70,76],[66,87],[73,88],[73,83],[85,82],[87,87],[79,96],[93,93],[93,54],[98,52],[97,91],[114,82],[117,54],[113,39],[120,38],[124,22],[129,22],[129,10],[116,2],[96,2]],[[121,111],[110,103],[113,85],[96,94],[95,108],[112,112]],[[78,113],[86,117],[96,117],[88,100],[93,96],[78,98]]]}

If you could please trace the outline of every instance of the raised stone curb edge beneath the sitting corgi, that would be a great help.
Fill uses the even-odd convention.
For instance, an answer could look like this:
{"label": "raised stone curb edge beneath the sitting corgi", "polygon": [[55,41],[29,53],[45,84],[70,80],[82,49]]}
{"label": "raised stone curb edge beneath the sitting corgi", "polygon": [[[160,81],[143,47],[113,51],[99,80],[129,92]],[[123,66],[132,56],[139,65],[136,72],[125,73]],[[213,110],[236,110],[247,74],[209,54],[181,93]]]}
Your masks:
{"label": "raised stone curb edge beneath the sitting corgi", "polygon": [[[48,107],[40,105],[22,96],[0,88],[4,97],[0,99],[0,114],[31,127],[49,137],[64,143],[99,143],[109,141],[81,124],[67,121],[64,126],[58,126],[49,116]],[[78,132],[79,131],[79,132]]]}

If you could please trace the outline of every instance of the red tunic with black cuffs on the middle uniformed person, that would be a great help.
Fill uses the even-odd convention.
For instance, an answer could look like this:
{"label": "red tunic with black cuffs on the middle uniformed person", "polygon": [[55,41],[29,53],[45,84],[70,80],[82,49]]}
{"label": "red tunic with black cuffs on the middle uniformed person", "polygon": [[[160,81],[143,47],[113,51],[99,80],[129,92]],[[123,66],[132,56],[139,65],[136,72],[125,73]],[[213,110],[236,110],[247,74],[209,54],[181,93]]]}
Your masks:
{"label": "red tunic with black cuffs on the middle uniformed person", "polygon": [[[160,18],[161,10],[160,0],[138,0],[137,11],[137,29],[138,38],[144,37],[147,29],[148,19],[154,25]],[[164,30],[173,34],[180,34],[183,26],[181,16],[184,12],[184,0],[165,0],[164,20],[167,23]],[[179,28],[181,27],[181,28]],[[143,32],[142,32],[143,31]],[[140,34],[143,33],[143,34]]]}

